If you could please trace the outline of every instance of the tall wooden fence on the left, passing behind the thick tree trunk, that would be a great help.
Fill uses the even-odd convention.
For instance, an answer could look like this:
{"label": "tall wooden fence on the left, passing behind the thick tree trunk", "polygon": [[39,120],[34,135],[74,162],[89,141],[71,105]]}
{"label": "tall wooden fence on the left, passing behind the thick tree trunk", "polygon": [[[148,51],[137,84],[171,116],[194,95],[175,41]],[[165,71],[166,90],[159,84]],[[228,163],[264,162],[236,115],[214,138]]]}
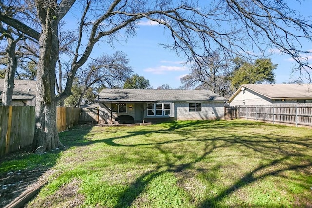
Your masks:
{"label": "tall wooden fence on the left, passing behind the thick tree trunk", "polygon": [[[57,129],[79,122],[80,108],[57,107]],[[0,106],[0,156],[31,145],[35,132],[34,106]]]}

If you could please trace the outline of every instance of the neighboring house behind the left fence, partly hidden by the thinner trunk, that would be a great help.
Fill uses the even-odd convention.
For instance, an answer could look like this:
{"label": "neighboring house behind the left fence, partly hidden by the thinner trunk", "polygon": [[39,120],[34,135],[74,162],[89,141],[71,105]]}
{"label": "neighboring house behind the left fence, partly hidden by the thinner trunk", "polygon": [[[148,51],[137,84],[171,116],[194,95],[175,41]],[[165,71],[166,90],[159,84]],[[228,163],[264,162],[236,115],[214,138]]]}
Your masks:
{"label": "neighboring house behind the left fence, partly hidden by the thinner trunk", "polygon": [[[2,103],[2,92],[4,79],[0,79],[0,104]],[[14,80],[14,90],[12,96],[12,105],[35,106],[36,81],[32,80]]]}

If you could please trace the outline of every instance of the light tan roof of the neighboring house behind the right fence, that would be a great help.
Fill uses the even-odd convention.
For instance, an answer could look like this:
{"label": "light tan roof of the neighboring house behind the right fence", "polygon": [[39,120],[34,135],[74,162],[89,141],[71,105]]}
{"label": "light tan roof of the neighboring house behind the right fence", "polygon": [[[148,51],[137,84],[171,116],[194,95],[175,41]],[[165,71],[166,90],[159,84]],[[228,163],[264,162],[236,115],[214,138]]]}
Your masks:
{"label": "light tan roof of the neighboring house behind the right fence", "polygon": [[242,87],[270,99],[312,99],[310,84],[243,84],[230,97],[229,102],[242,90]]}

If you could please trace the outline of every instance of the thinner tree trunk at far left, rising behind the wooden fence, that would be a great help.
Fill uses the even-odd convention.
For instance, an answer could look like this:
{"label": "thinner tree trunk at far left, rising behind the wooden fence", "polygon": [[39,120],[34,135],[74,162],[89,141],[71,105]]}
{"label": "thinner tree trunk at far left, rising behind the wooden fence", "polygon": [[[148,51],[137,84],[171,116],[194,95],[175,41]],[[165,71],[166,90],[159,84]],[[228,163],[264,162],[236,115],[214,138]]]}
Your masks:
{"label": "thinner tree trunk at far left, rising behind the wooden fence", "polygon": [[2,105],[12,105],[12,96],[14,88],[14,76],[18,65],[17,58],[15,56],[16,41],[11,38],[7,38],[8,46],[6,48],[6,54],[8,57],[8,66],[5,72],[4,87],[2,92]]}

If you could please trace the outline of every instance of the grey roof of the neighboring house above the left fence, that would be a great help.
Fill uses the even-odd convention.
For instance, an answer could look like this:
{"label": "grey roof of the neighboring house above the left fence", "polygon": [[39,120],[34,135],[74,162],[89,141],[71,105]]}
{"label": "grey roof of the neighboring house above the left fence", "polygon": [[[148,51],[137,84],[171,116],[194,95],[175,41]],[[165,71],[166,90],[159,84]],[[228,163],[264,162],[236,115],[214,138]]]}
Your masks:
{"label": "grey roof of the neighboring house above the left fence", "polygon": [[[4,79],[0,79],[0,94],[3,92]],[[14,90],[12,100],[32,100],[36,96],[36,81],[14,80]],[[2,96],[0,96],[2,100]]]}

